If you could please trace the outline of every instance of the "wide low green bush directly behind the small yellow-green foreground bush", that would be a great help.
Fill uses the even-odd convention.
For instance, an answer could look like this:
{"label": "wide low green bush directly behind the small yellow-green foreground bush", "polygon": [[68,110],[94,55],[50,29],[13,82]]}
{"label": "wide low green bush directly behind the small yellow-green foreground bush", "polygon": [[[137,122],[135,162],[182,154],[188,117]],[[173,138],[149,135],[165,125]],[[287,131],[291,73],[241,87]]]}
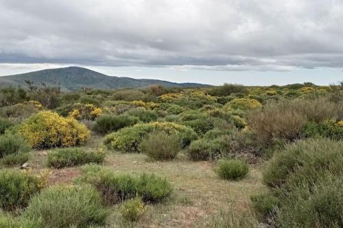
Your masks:
{"label": "wide low green bush directly behind the small yellow-green foreground bush", "polygon": [[83,168],[79,181],[92,183],[108,203],[132,199],[137,195],[144,202],[158,203],[167,199],[172,187],[167,179],[143,173],[139,176],[116,174],[97,166]]}

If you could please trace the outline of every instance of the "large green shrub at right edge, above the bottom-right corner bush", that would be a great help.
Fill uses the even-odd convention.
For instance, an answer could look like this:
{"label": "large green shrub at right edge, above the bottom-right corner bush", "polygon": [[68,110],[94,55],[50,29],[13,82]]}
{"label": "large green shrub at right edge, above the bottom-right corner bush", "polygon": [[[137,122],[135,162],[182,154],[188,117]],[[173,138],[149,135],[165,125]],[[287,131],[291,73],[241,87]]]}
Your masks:
{"label": "large green shrub at right edge, above the bottom-right corner bush", "polygon": [[271,188],[290,183],[311,183],[325,170],[343,174],[343,142],[308,139],[290,144],[276,153],[263,173],[263,182]]}

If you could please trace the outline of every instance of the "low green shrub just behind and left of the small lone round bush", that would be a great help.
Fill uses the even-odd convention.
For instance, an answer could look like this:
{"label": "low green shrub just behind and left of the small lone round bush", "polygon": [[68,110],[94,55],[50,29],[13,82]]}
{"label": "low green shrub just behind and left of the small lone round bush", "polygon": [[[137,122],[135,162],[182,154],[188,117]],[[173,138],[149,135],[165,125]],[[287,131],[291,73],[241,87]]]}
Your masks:
{"label": "low green shrub just behind and left of the small lone round bush", "polygon": [[228,136],[221,136],[213,140],[201,138],[191,142],[187,155],[192,160],[209,160],[225,155],[230,151],[231,140]]}

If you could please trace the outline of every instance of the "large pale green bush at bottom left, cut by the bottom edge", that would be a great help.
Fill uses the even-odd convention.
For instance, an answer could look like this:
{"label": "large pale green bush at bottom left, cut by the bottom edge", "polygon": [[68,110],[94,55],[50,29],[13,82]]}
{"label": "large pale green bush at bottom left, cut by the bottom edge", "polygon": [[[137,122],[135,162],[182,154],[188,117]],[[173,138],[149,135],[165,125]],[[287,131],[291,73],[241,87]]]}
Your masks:
{"label": "large pale green bush at bottom left, cut by the bottom edge", "polygon": [[104,225],[109,210],[92,186],[52,186],[29,201],[23,217],[38,227]]}

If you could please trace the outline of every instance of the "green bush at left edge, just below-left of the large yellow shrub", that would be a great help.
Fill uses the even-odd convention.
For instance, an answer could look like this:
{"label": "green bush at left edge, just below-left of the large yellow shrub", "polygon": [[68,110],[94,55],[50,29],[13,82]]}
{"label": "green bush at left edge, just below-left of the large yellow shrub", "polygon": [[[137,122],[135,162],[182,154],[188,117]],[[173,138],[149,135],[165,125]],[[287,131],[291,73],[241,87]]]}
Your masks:
{"label": "green bush at left edge, just below-left of the large yellow shrub", "polygon": [[6,155],[27,153],[30,150],[27,142],[19,135],[5,134],[0,136],[0,159]]}

